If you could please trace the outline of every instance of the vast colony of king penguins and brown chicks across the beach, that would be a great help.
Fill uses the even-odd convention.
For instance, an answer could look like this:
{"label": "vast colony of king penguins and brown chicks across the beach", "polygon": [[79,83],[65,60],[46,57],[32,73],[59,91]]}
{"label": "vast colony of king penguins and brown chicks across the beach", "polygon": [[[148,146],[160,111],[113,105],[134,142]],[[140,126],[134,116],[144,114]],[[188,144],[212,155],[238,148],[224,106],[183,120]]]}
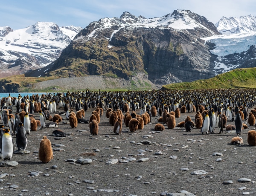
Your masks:
{"label": "vast colony of king penguins and brown chicks across the beach", "polygon": [[[91,135],[100,134],[100,119],[109,118],[113,126],[113,134],[122,134],[123,126],[132,133],[143,131],[145,126],[152,126],[155,131],[169,131],[180,127],[186,132],[193,128],[201,129],[201,134],[226,133],[236,131],[237,137],[232,138],[231,144],[242,144],[241,131],[249,126],[255,126],[256,95],[252,89],[244,90],[243,96],[236,93],[237,89],[192,91],[145,91],[145,92],[67,92],[47,93],[1,99],[1,129],[0,151],[5,161],[12,159],[16,136],[17,150],[26,150],[27,138],[33,131],[45,127],[58,127],[63,119],[69,121],[70,129],[78,123],[90,130]],[[246,96],[244,96],[246,94]],[[15,112],[16,108],[16,112]],[[85,112],[93,108],[90,118],[85,119]],[[58,112],[64,109],[64,112]],[[251,111],[249,112],[250,109]],[[176,118],[181,113],[193,113],[185,121],[176,125]],[[14,115],[15,114],[15,115]],[[35,118],[35,114],[39,118]],[[125,114],[125,115],[124,115]],[[217,115],[216,115],[217,114]],[[153,121],[152,117],[159,117]],[[227,124],[234,121],[235,126]],[[166,125],[165,125],[166,124]],[[226,125],[227,124],[227,125]],[[225,130],[226,129],[226,130]],[[58,129],[52,132],[56,137],[65,137],[66,133]],[[247,143],[256,145],[255,130],[247,134]],[[48,163],[53,159],[51,142],[44,136],[39,145],[39,160]]]}

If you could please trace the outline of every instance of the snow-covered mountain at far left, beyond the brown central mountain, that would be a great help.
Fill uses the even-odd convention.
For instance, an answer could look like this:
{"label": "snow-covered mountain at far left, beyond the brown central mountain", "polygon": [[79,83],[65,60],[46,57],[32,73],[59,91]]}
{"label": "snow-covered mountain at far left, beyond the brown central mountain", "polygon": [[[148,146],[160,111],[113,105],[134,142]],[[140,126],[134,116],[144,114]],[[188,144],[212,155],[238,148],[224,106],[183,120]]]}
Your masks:
{"label": "snow-covered mountain at far left, beyond the brown central mountain", "polygon": [[55,61],[81,29],[47,22],[15,31],[8,26],[0,27],[0,78]]}

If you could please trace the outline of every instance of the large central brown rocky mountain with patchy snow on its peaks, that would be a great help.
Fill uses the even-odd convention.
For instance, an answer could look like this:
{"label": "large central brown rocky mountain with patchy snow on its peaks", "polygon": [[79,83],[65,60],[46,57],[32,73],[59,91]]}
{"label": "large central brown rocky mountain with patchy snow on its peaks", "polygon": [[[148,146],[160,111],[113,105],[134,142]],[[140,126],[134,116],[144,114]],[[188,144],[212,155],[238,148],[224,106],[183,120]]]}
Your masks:
{"label": "large central brown rocky mountain with patchy snow on its peaks", "polygon": [[207,79],[215,75],[215,56],[209,52],[212,45],[200,38],[218,34],[213,23],[186,10],[154,19],[124,12],[120,18],[90,23],[55,62],[25,76],[112,73],[128,79],[146,72],[156,85]]}

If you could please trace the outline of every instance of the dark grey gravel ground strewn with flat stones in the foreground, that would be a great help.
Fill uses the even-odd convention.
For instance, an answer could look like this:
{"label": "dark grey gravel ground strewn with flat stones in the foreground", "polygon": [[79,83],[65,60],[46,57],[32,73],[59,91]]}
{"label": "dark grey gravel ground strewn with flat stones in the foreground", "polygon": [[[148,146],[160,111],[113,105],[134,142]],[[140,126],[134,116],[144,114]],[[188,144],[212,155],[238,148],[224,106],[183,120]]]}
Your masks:
{"label": "dark grey gravel ground strewn with flat stones in the foreground", "polygon": [[[86,119],[92,111],[90,108],[85,113]],[[176,124],[187,115],[195,119],[195,113],[181,114]],[[39,119],[39,115],[35,114],[35,118]],[[202,135],[200,129],[193,129],[191,133],[178,127],[167,129],[166,125],[166,130],[155,131],[158,118],[154,117],[143,130],[135,133],[129,132],[123,124],[121,135],[113,133],[105,112],[98,136],[90,135],[88,124],[71,128],[68,123],[64,124],[67,119],[58,127],[68,134],[67,137],[52,136],[56,128],[31,132],[26,149],[30,153],[14,154],[12,161],[17,161],[18,165],[0,168],[0,194],[160,196],[182,190],[188,193],[179,195],[256,194],[255,147],[247,145],[247,132],[254,126],[242,130],[243,144],[231,145],[236,133],[218,134],[216,128],[212,135]],[[227,124],[234,123],[228,121]],[[54,154],[54,159],[47,164],[38,160],[39,143],[44,135],[51,141]],[[16,141],[15,137],[13,139]],[[79,164],[79,159],[89,163]],[[246,182],[239,182],[239,179]]]}

